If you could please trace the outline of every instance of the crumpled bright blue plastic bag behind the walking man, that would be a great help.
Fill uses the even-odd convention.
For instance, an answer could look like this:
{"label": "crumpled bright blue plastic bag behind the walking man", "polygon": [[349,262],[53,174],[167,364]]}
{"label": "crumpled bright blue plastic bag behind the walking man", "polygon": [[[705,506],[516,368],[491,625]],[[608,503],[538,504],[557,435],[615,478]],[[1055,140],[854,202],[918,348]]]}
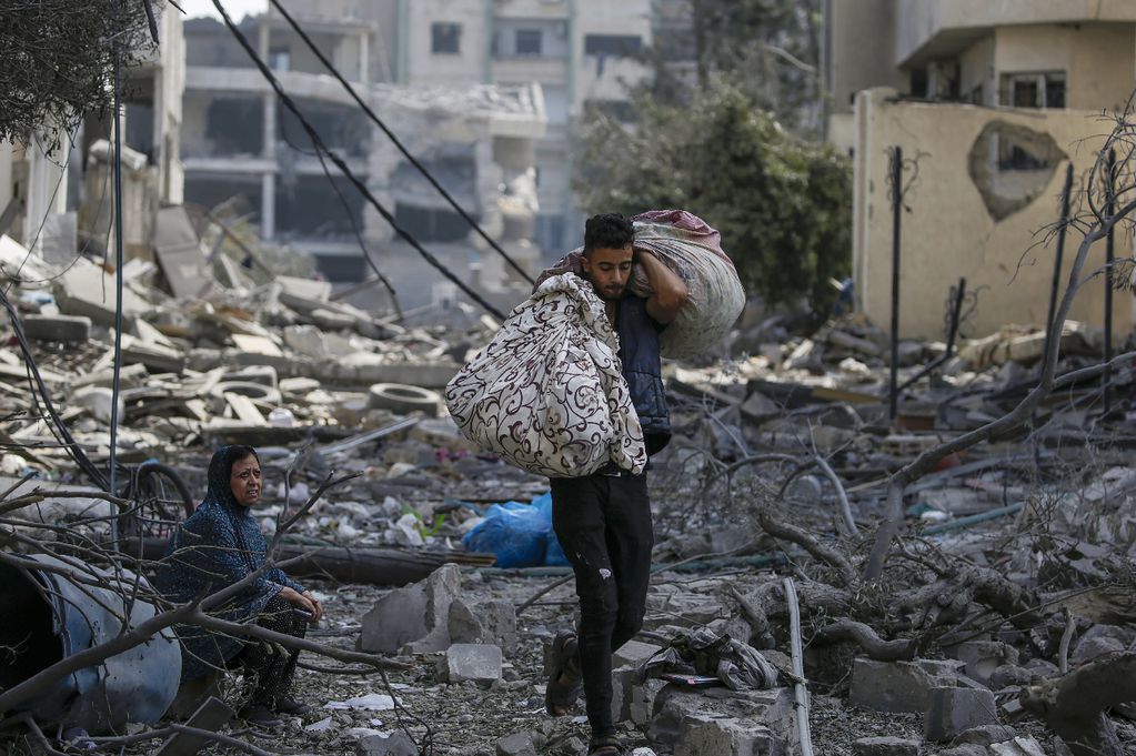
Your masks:
{"label": "crumpled bright blue plastic bag behind the walking man", "polygon": [[537,496],[529,504],[494,504],[461,543],[469,551],[494,554],[499,568],[568,564],[552,532],[551,493]]}

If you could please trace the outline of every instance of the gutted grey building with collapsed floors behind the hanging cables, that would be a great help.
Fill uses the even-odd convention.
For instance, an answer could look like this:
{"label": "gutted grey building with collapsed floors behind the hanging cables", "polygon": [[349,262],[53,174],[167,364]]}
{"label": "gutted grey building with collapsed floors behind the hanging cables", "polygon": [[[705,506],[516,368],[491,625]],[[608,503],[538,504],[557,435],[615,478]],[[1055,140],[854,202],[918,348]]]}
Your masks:
{"label": "gutted grey building with collapsed floors behind the hanging cables", "polygon": [[[382,54],[385,19],[362,12],[369,3],[325,5],[295,7],[316,44],[458,204],[521,264],[534,267],[533,144],[545,128],[540,87],[476,82],[399,86],[391,83]],[[510,280],[496,255],[470,249],[469,224],[367,118],[283,17],[270,11],[247,18],[243,26],[304,118],[391,208],[400,226],[479,288],[507,288]],[[331,180],[339,191],[328,186],[302,124],[278,102],[228,30],[212,19],[193,19],[186,25],[186,41],[187,201],[212,207],[242,195],[262,240],[314,254],[333,282],[367,277],[358,232],[404,305],[452,299],[446,286],[436,286],[442,278],[423,274],[417,253],[395,238],[391,226],[332,166]]]}

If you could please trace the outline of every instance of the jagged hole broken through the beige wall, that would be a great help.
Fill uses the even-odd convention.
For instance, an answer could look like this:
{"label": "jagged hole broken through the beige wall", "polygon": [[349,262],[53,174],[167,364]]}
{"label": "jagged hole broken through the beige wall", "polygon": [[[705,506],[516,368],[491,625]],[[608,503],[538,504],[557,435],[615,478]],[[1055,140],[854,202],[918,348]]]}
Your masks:
{"label": "jagged hole broken through the beige wall", "polygon": [[1049,134],[995,120],[970,148],[970,178],[991,217],[1003,220],[1045,191],[1066,157]]}

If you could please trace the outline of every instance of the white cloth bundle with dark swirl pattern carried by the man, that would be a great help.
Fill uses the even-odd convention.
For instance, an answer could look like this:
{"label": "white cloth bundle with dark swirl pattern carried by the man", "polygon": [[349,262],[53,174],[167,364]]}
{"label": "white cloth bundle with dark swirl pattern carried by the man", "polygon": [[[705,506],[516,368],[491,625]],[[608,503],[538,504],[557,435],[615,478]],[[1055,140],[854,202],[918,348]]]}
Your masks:
{"label": "white cloth bundle with dark swirl pattern carried by the man", "polygon": [[553,276],[450,380],[445,403],[466,438],[528,472],[575,478],[613,462],[638,474],[646,447],[618,354],[592,285]]}

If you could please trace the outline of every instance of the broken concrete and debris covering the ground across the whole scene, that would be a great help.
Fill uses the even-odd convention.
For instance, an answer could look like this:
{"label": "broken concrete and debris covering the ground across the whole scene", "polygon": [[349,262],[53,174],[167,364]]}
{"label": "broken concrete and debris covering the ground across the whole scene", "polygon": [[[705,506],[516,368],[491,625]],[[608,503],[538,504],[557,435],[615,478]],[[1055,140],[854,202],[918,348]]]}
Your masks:
{"label": "broken concrete and debris covering the ground across the whole scene", "polygon": [[[192,503],[209,450],[253,445],[269,534],[331,473],[357,473],[323,490],[278,555],[304,556],[294,571],[327,606],[309,639],[401,664],[327,674],[306,654],[296,691],[316,711],[285,723],[291,753],[584,753],[583,717],[543,711],[545,648],[575,608],[570,570],[551,558],[502,569],[461,544],[491,505],[524,506],[548,485],[478,453],[444,417],[436,389],[493,324],[408,327],[336,301],[325,283],[210,259],[186,224],[159,219],[154,262],[123,270],[118,461],[168,463]],[[0,468],[25,478],[6,497],[89,486],[45,400],[106,470],[115,277],[6,237],[0,264],[19,282],[7,293],[19,328],[9,324],[0,348]],[[1088,329],[1071,324],[1061,339],[1059,373],[1100,362]],[[1136,747],[1136,707],[1108,677],[1126,673],[1136,644],[1131,366],[1113,370],[1106,415],[1093,375],[1027,423],[945,455],[902,492],[900,537],[882,574],[863,577],[889,477],[1009,412],[1036,384],[1043,344],[1018,328],[957,353],[901,344],[900,383],[911,384],[894,419],[887,339],[857,316],[809,338],[765,324],[735,338],[747,355],[665,366],[675,438],[649,473],[657,569],[643,632],[615,665],[629,753],[803,753],[800,716],[820,754],[1080,754],[1070,744],[1086,737]],[[23,532],[47,544],[91,521],[84,532],[108,537],[98,518],[109,503],[66,501],[49,495]],[[785,576],[807,709],[794,700]],[[660,677],[652,660],[699,637],[744,644],[776,682],[740,686],[721,666]],[[228,703],[241,695],[232,683],[218,691]],[[282,741],[224,716],[214,726],[269,750]]]}

